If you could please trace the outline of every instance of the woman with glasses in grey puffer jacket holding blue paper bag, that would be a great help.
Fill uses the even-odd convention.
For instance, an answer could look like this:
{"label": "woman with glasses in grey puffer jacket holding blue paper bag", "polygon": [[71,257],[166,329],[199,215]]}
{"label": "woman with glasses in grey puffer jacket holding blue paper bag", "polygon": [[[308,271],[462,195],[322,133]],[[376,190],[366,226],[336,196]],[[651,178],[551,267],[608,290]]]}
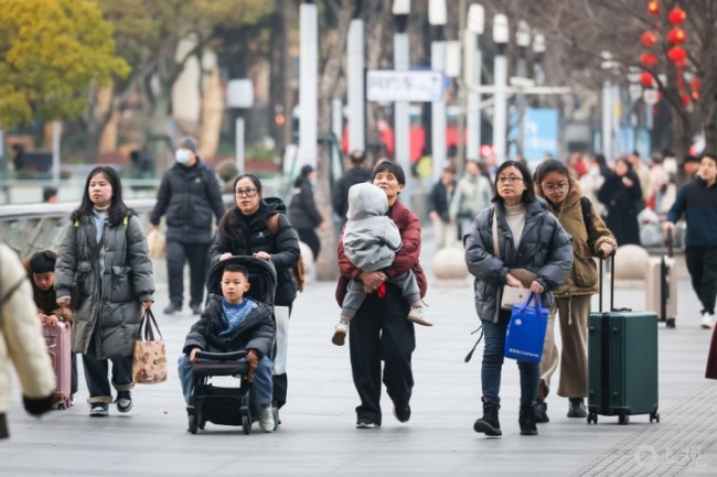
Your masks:
{"label": "woman with glasses in grey puffer jacket holding blue paper bag", "polygon": [[[485,344],[481,368],[483,416],[475,421],[475,432],[502,435],[497,420],[501,370],[510,311],[501,310],[503,285],[525,286],[542,295],[543,305],[553,303],[550,290],[559,286],[572,267],[570,236],[535,197],[533,181],[525,165],[506,161],[495,175],[494,206],[482,210],[465,237],[465,262],[475,277],[475,310],[483,323]],[[497,231],[496,256],[493,223]],[[528,279],[527,277],[533,277]],[[521,280],[525,281],[522,282]],[[521,372],[522,435],[536,435],[534,404],[539,368],[537,362],[517,361]]]}

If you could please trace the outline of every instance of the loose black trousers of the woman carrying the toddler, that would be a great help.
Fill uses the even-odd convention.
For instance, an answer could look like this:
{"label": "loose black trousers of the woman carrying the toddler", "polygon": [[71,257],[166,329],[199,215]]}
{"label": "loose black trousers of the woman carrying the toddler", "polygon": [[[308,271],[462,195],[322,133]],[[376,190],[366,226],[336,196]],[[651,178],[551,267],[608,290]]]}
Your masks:
{"label": "loose black trousers of the woman carrying the toddler", "polygon": [[386,282],[386,295],[366,295],[351,321],[349,345],[353,382],[361,405],[358,420],[381,424],[381,361],[383,382],[395,405],[408,404],[414,389],[410,357],[416,349],[414,324],[407,319],[409,305],[398,288]]}

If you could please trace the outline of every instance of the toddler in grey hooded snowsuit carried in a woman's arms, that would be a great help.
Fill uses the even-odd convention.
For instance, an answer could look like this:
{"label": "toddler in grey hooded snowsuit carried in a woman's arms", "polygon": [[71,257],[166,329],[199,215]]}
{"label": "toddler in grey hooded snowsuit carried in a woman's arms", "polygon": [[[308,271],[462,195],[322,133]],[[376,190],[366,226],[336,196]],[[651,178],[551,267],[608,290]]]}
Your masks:
{"label": "toddler in grey hooded snowsuit carried in a woman's arms", "polygon": [[[403,243],[398,227],[386,216],[387,212],[386,193],[377,186],[362,183],[349,189],[349,212],[346,213],[349,220],[343,231],[343,248],[351,263],[364,272],[375,272],[390,267]],[[419,325],[432,326],[434,323],[424,316],[414,272],[408,270],[408,272],[388,279],[388,281],[400,289],[403,296],[410,304],[408,319]],[[349,323],[365,297],[366,292],[361,280],[349,282],[341,308],[341,319],[331,339],[334,345],[343,346],[346,333],[349,333]]]}

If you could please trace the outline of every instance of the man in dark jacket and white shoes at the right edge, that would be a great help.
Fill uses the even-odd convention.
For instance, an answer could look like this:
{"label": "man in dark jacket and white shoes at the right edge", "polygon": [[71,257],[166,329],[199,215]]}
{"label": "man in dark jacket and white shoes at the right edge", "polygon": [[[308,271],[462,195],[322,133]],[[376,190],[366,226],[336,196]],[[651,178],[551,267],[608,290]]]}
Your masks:
{"label": "man in dark jacket and white shoes at the right edge", "polygon": [[675,223],[685,216],[685,261],[692,286],[702,302],[699,325],[709,329],[715,317],[717,296],[717,154],[704,153],[696,177],[684,185],[663,225],[672,234]]}

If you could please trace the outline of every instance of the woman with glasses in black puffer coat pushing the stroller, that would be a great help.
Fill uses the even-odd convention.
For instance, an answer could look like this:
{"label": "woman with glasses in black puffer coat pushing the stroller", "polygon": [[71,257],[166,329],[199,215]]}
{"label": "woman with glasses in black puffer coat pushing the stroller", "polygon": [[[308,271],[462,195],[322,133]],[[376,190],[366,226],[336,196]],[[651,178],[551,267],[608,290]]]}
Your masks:
{"label": "woman with glasses in black puffer coat pushing the stroller", "polygon": [[[277,271],[276,306],[289,307],[297,297],[292,268],[299,261],[299,238],[286,217],[286,206],[279,199],[264,199],[261,181],[254,174],[243,174],[234,182],[235,207],[220,220],[210,264],[235,256],[252,256],[271,261]],[[269,219],[277,216],[276,229]],[[274,231],[272,231],[274,230]],[[274,376],[274,404],[281,408],[287,398],[287,375]]]}

